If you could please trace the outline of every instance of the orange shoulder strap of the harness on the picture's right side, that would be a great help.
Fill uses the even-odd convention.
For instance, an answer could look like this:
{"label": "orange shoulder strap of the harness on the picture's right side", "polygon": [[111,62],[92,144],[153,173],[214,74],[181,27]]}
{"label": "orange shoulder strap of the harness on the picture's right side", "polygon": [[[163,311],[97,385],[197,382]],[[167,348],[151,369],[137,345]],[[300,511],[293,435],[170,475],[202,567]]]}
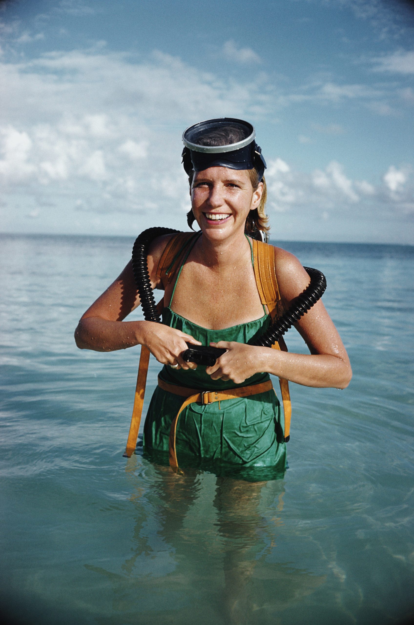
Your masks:
{"label": "orange shoulder strap of the harness on the picture's right side", "polygon": [[[253,270],[255,271],[256,284],[260,295],[260,301],[268,307],[271,318],[275,319],[279,314],[280,292],[278,281],[276,280],[275,269],[275,248],[261,241],[252,239],[253,242]],[[283,338],[272,345],[273,349],[288,351]],[[280,392],[283,401],[283,412],[285,414],[285,441],[290,438],[290,417],[291,401],[289,392],[289,382],[283,377],[279,378]]]}

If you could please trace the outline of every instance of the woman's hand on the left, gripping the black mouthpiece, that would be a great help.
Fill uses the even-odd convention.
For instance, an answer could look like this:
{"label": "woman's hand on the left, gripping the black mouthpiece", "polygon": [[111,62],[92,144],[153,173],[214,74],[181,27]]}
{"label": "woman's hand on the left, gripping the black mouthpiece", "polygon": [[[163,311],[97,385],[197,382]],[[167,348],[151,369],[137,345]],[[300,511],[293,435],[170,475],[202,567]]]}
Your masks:
{"label": "woman's hand on the left, gripping the black mouthpiece", "polygon": [[178,364],[177,369],[196,369],[195,362],[184,362],[181,354],[188,349],[187,343],[201,345],[190,334],[174,327],[153,321],[140,322],[139,342],[148,347],[161,364]]}

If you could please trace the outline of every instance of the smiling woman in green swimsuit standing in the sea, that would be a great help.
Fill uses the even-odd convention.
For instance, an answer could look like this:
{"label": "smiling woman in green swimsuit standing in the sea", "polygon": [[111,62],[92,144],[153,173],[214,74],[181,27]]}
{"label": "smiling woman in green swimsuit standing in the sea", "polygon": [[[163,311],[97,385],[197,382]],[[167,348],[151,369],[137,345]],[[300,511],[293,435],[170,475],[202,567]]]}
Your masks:
{"label": "smiling woman in green swimsuit standing in the sea", "polygon": [[[216,392],[216,401],[192,402],[179,417],[175,442],[180,463],[202,460],[283,470],[283,421],[269,374],[305,386],[345,388],[350,362],[321,301],[296,325],[309,355],[249,344],[271,323],[259,296],[252,241],[246,234],[268,229],[266,164],[253,126],[241,120],[195,124],[183,141],[191,195],[188,222],[191,226],[195,220],[200,232],[184,237],[173,279],[158,271],[173,235],[158,237],[149,247],[151,284],[164,290],[163,324],[121,323],[139,305],[129,263],[84,313],[76,344],[97,351],[140,344],[164,365],[144,426],[147,452],[168,452],[171,423],[178,419],[186,389],[208,389]],[[273,251],[271,256],[273,261]],[[283,312],[308,286],[309,276],[295,256],[279,247],[274,248],[274,271]],[[213,366],[197,368],[183,360],[187,343],[210,344],[226,352]],[[235,397],[220,401],[226,390]]]}

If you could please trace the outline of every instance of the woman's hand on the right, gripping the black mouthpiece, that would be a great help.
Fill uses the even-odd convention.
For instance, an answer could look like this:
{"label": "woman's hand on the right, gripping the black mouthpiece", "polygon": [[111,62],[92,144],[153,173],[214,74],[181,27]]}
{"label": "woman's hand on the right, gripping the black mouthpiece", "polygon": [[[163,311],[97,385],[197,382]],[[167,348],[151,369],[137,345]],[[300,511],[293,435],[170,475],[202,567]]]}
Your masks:
{"label": "woman's hand on the right, gripping the black mouthpiece", "polygon": [[206,368],[206,373],[212,380],[232,380],[241,384],[248,377],[255,375],[260,368],[259,352],[263,347],[255,347],[236,341],[219,341],[210,343],[211,347],[224,347],[227,351],[220,356],[212,367]]}

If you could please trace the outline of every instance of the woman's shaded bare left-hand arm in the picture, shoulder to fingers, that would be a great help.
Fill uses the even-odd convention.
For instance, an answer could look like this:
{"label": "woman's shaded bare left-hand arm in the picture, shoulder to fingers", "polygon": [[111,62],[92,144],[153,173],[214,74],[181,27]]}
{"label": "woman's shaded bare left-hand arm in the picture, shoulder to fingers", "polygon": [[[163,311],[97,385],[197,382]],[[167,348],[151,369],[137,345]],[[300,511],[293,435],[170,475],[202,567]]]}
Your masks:
{"label": "woman's shaded bare left-hand arm in the picture, shoulder to fingers", "polygon": [[[163,289],[156,279],[156,268],[168,238],[158,237],[149,249],[148,271],[153,288]],[[186,341],[199,344],[189,334],[152,321],[123,321],[139,304],[129,262],[111,286],[84,312],[75,330],[76,345],[80,349],[104,352],[146,345],[159,362],[179,362],[185,369],[192,368],[179,357],[187,348]]]}

